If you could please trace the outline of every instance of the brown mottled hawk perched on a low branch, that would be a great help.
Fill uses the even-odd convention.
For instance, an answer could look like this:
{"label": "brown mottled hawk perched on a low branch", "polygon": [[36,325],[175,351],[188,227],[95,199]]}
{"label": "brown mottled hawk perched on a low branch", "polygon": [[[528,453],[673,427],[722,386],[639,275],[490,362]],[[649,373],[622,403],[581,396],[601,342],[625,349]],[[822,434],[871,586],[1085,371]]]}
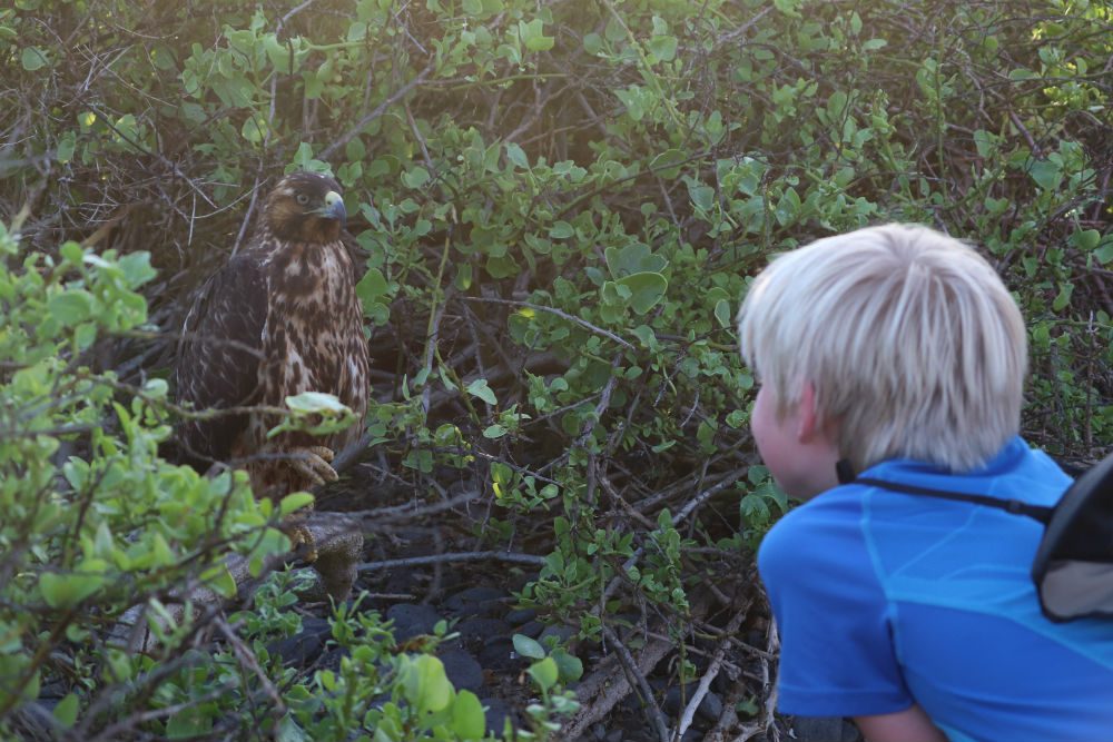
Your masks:
{"label": "brown mottled hawk perched on a low branch", "polygon": [[[186,316],[175,367],[179,402],[196,409],[282,407],[289,395],[325,392],[363,421],[367,340],[341,237],[345,216],[332,178],[295,172],[278,182],[247,248],[205,283]],[[363,427],[268,441],[279,419],[256,409],[188,421],[178,446],[199,468],[244,465],[256,496],[280,498],[336,479],[329,463]]]}

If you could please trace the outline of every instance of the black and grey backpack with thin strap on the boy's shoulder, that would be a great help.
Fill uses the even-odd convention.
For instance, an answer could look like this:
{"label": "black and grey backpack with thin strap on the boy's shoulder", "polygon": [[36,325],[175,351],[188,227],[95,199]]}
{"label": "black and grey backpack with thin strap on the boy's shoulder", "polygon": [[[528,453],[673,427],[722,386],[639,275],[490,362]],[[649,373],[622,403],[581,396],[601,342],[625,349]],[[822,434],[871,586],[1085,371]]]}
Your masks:
{"label": "black and grey backpack with thin strap on the boy's shoulder", "polygon": [[836,468],[840,484],[974,503],[1040,521],[1045,527],[1032,581],[1043,614],[1055,622],[1113,619],[1113,454],[1075,479],[1054,507],[859,478],[845,461]]}

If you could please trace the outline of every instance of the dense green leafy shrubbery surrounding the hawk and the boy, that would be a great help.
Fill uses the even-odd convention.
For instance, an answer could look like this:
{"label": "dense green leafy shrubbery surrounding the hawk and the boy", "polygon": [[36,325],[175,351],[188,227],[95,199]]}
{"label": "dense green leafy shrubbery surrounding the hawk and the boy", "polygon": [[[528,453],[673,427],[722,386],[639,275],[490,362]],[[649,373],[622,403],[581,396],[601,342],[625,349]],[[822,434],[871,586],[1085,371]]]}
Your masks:
{"label": "dense green leafy shrubbery surrounding the hawk and the boy", "polygon": [[[284,739],[418,733],[403,679],[435,667],[384,670],[371,619],[337,619],[336,641],[365,647],[347,676],[265,656],[296,630],[285,583],[226,635],[106,643],[137,600],[283,546],[240,479],[156,447],[183,412],[162,379],[188,293],[284,169],[331,170],[358,215],[372,452],[431,501],[481,492],[485,517],[459,513],[472,533],[546,557],[524,603],[589,640],[667,635],[679,674],[702,622],[727,623],[707,577],[742,602],[738,552],[786,507],[750,445],[731,327],[770,254],[881,220],[976,241],[1031,324],[1026,435],[1093,458],[1113,432],[1111,23],[1078,0],[0,10],[0,217],[17,225],[0,243],[0,729],[53,683],[70,693],[55,718],[90,738],[117,711],[235,735],[269,692]],[[187,651],[214,642],[211,664]],[[391,689],[411,711],[387,719],[367,704]]]}

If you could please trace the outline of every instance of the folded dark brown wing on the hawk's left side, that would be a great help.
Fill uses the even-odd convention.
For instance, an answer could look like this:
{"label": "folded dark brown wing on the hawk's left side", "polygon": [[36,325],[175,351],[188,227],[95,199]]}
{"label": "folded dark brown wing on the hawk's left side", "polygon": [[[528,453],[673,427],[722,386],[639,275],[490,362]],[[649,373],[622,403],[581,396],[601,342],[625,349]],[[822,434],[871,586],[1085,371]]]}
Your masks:
{"label": "folded dark brown wing on the hawk's left side", "polygon": [[[175,382],[178,402],[195,409],[255,404],[259,397],[267,280],[257,256],[242,254],[201,287],[186,316]],[[227,461],[247,415],[220,415],[183,423],[178,445],[203,467]]]}

